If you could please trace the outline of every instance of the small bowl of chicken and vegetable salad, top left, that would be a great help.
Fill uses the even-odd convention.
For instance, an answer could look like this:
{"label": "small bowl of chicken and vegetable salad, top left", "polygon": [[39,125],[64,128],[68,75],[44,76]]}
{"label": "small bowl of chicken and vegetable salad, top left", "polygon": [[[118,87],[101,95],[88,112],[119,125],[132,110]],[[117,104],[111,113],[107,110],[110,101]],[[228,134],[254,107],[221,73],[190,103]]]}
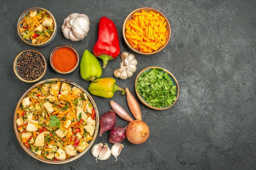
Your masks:
{"label": "small bowl of chicken and vegetable salad, top left", "polygon": [[34,47],[50,44],[57,34],[57,22],[47,9],[34,7],[24,11],[17,23],[20,39]]}

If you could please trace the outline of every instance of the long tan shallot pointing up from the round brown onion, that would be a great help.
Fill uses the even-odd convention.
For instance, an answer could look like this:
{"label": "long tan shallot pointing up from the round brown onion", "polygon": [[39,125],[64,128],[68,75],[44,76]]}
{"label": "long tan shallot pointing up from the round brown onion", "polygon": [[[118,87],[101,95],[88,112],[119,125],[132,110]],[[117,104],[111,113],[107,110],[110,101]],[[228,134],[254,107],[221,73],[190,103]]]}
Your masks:
{"label": "long tan shallot pointing up from the round brown onion", "polygon": [[130,93],[129,89],[126,87],[126,100],[128,103],[128,107],[130,109],[130,111],[132,112],[132,115],[134,116],[134,118],[136,120],[141,120],[141,111],[139,108],[139,103],[137,102],[137,100],[135,99],[134,96],[132,96],[132,94]]}

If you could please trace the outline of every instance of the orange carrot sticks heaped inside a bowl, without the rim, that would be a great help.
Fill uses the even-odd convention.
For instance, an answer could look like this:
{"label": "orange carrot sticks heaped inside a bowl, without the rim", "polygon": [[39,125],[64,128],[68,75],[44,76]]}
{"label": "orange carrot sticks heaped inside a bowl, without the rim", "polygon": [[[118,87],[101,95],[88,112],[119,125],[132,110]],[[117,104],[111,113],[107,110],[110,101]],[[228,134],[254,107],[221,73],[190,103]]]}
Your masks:
{"label": "orange carrot sticks heaped inside a bowl, without the rim", "polygon": [[153,52],[166,43],[166,20],[159,13],[144,11],[134,13],[125,24],[128,43],[141,52]]}

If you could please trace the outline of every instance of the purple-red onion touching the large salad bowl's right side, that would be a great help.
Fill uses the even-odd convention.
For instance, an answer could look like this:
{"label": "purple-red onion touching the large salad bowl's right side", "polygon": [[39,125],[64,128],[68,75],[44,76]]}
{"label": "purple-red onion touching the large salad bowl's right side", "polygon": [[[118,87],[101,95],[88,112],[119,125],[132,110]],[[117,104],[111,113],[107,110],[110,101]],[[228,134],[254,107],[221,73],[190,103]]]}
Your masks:
{"label": "purple-red onion touching the large salad bowl's right side", "polygon": [[101,115],[101,118],[99,119],[99,125],[101,126],[101,129],[99,131],[99,136],[101,136],[104,132],[112,129],[116,125],[116,113],[115,111],[108,111]]}

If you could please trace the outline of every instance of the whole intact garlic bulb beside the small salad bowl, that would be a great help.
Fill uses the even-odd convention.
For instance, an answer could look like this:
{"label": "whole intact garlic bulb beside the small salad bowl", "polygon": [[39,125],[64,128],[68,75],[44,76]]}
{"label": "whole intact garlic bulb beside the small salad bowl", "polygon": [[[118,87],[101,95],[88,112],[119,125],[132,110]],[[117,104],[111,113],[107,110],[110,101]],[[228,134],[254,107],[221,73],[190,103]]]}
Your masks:
{"label": "whole intact garlic bulb beside the small salad bowl", "polygon": [[61,26],[63,35],[72,41],[82,40],[90,30],[90,20],[85,14],[72,13]]}

